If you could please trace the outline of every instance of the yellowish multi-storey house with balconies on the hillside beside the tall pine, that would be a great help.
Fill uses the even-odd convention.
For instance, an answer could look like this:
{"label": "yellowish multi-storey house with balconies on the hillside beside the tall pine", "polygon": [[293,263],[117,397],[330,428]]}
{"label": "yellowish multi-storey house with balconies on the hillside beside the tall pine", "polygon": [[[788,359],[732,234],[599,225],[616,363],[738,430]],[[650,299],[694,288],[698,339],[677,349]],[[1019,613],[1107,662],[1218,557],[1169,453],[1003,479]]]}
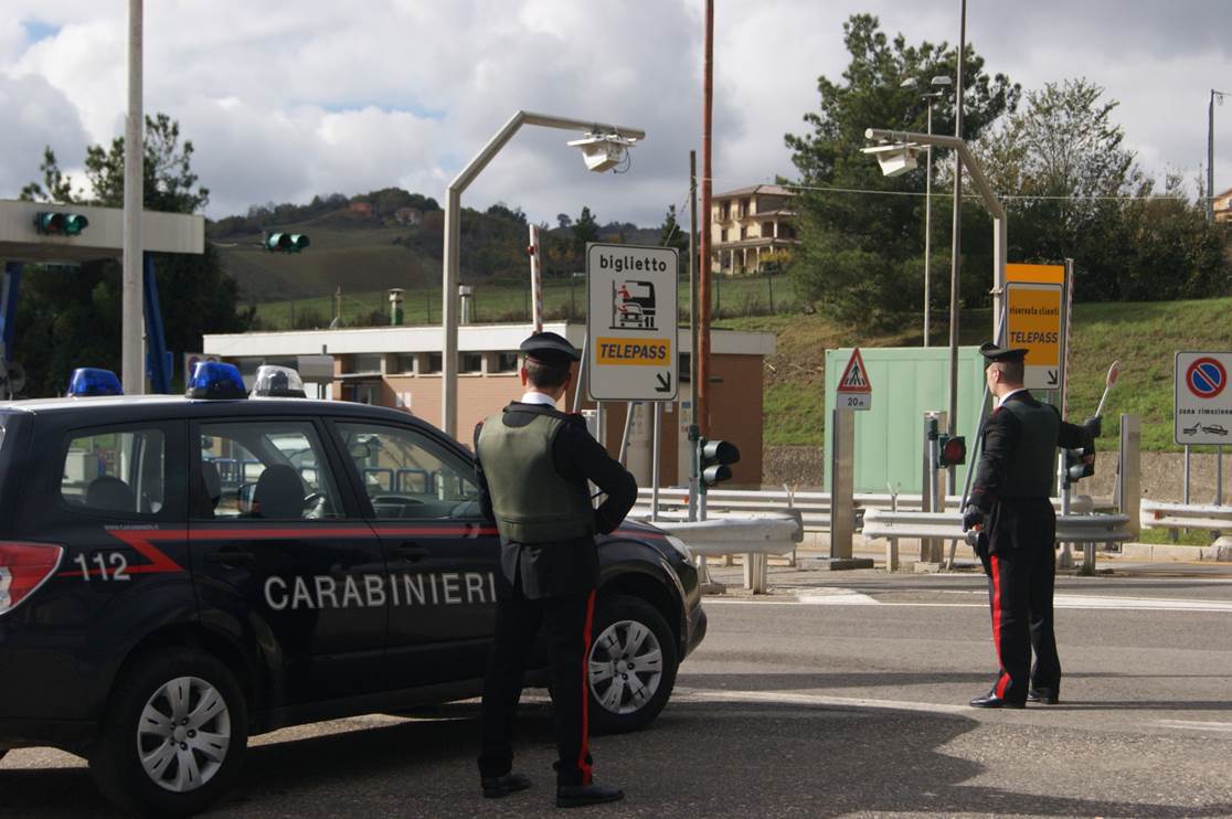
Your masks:
{"label": "yellowish multi-storey house with balconies on the hillside beside the tall pine", "polygon": [[798,245],[795,196],[780,185],[753,185],[715,196],[711,270],[728,276],[756,273],[770,259]]}

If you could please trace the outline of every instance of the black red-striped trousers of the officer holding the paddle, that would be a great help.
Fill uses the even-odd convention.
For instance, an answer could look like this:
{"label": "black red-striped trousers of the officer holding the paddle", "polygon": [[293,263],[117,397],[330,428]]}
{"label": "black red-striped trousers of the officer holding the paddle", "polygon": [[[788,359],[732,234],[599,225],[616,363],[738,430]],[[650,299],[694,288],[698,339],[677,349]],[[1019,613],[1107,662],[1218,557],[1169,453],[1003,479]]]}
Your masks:
{"label": "black red-striped trousers of the officer holding the paddle", "polygon": [[1047,500],[998,504],[989,526],[991,552],[979,554],[1000,665],[993,693],[1009,702],[1025,702],[1029,686],[1061,688],[1052,618],[1055,532],[1056,515]]}

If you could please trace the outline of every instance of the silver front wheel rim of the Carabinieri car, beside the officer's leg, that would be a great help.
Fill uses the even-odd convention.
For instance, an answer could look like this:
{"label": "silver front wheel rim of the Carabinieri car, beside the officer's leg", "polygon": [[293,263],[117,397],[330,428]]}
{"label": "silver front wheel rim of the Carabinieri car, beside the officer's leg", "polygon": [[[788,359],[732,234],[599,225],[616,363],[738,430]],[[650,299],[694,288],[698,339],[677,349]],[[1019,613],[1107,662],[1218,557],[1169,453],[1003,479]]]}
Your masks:
{"label": "silver front wheel rim of the Carabinieri car, beside the officer's leg", "polygon": [[588,658],[590,691],[605,711],[631,714],[663,681],[663,647],[646,623],[621,619],[602,631]]}

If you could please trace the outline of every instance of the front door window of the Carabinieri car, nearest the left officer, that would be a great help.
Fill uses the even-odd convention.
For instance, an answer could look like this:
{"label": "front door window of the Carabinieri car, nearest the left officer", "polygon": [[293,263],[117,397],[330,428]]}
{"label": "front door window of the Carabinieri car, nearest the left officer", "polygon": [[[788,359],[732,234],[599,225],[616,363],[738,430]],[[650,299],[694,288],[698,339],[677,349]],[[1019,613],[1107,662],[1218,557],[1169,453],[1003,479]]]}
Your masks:
{"label": "front door window of the Carabinieri car, nearest the left officer", "polygon": [[376,517],[474,520],[474,468],[432,437],[395,426],[338,424]]}

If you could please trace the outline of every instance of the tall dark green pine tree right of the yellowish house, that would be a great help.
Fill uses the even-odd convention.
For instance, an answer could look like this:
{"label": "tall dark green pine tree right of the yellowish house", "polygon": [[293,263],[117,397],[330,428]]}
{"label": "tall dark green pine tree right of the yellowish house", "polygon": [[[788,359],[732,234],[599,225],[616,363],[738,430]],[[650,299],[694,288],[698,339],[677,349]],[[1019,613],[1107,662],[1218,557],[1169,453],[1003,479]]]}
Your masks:
{"label": "tall dark green pine tree right of the yellowish house", "polygon": [[[903,80],[952,76],[957,49],[946,43],[908,46],[902,34],[890,41],[872,15],[854,15],[844,26],[851,60],[843,81],[818,78],[821,106],[804,115],[811,131],[787,134],[800,179],[800,251],[790,272],[797,294],[819,301],[840,319],[873,320],[915,310],[923,298],[924,203],[913,196],[878,196],[844,191],[924,191],[924,164],[897,177],[881,175],[877,163],[860,153],[870,127],[925,129],[925,101],[901,87]],[[998,74],[989,76],[971,47],[963,54],[963,137],[973,139],[1018,105],[1020,89]],[[933,129],[954,133],[951,100],[935,103]],[[945,151],[934,151],[945,160]],[[987,289],[987,287],[984,288]]]}

